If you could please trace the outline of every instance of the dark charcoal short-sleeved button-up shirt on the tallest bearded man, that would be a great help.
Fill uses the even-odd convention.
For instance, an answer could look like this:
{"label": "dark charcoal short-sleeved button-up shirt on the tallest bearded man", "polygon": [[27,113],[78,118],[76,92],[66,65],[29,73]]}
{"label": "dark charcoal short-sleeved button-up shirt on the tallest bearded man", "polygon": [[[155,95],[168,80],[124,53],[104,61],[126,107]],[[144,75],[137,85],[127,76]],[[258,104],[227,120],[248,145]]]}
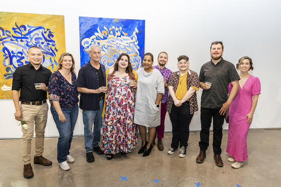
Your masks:
{"label": "dark charcoal short-sleeved button-up shirt on the tallest bearded man", "polygon": [[234,65],[221,60],[216,65],[209,61],[200,70],[200,82],[212,82],[209,90],[203,90],[201,106],[204,108],[221,108],[228,99],[229,82],[240,80]]}

